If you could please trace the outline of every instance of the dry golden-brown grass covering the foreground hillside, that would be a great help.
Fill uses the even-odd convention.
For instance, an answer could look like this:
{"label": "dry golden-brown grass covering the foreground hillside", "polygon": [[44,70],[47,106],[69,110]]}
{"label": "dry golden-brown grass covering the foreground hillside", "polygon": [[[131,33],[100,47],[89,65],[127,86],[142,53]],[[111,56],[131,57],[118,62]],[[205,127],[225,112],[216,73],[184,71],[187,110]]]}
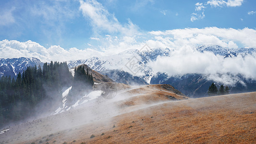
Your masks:
{"label": "dry golden-brown grass covering the foreground hillside", "polygon": [[[35,139],[23,139],[19,143],[35,142],[38,144],[39,140],[43,140],[42,144],[45,144],[46,138],[49,139],[49,144],[64,142],[67,144],[256,143],[256,92],[190,98],[136,109],[141,104],[139,101],[148,98],[149,94],[156,95],[153,96],[156,99],[157,97],[159,99],[166,97],[163,89],[161,92],[155,93],[147,88],[146,90],[148,93],[133,97],[134,103],[128,106],[128,108],[134,108],[133,111],[115,116],[110,120],[90,122],[72,129],[61,130],[53,133],[53,136],[49,136],[51,134],[49,133]],[[159,93],[162,94],[162,97],[158,96]],[[145,100],[142,101],[145,102]],[[76,111],[69,113],[73,113],[73,117],[75,117],[81,113],[81,111]],[[52,117],[64,117],[69,113]],[[43,124],[51,125],[50,118],[49,123]],[[95,135],[95,137],[90,138],[91,135]]]}

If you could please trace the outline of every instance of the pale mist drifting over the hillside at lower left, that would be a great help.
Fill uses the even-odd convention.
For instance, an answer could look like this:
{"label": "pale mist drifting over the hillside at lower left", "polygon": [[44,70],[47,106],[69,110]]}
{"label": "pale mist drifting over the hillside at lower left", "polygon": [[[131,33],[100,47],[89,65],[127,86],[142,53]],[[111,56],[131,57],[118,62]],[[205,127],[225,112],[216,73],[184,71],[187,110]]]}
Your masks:
{"label": "pale mist drifting over the hillside at lower left", "polygon": [[[89,94],[84,92],[84,94],[80,93],[80,96],[77,96],[78,102],[76,106],[73,105],[75,101],[70,101],[69,104],[66,102],[64,109],[57,113],[52,112],[51,115],[43,112],[46,109],[49,111],[54,108],[57,109],[57,103],[55,105],[51,103],[50,107],[49,104],[47,107],[40,107],[41,109],[38,108],[37,112],[38,114],[41,113],[41,115],[29,117],[21,123],[12,123],[11,127],[9,125],[6,126],[10,131],[4,133],[4,137],[2,137],[3,135],[0,136],[3,140],[8,141],[9,139],[10,142],[10,139],[12,139],[11,142],[19,143],[35,139],[40,140],[50,137],[49,135],[56,136],[59,133],[62,136],[74,135],[75,137],[75,132],[73,133],[73,131],[79,130],[87,124],[113,127],[116,121],[113,122],[112,118],[115,116],[168,102],[152,98],[137,100],[138,96],[147,96],[149,91],[146,88],[146,86],[129,86],[118,83],[95,84],[94,89]],[[93,93],[96,91],[101,91],[101,93]],[[150,91],[155,91],[155,89]],[[89,95],[94,95],[92,96],[94,98],[86,101]],[[62,98],[69,100],[68,97]],[[50,99],[47,99],[41,105],[50,101]],[[150,111],[147,111],[147,113],[150,113]],[[88,131],[93,132],[94,130]]]}

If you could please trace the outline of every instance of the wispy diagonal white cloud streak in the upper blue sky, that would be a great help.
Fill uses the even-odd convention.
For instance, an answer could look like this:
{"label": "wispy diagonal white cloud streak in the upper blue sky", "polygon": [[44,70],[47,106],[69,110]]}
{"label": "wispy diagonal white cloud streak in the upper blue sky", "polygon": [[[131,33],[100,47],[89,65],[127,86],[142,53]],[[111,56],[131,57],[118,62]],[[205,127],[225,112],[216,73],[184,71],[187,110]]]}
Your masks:
{"label": "wispy diagonal white cloud streak in the upper blue sky", "polygon": [[91,20],[94,32],[108,32],[112,34],[134,35],[138,27],[128,20],[128,24],[120,24],[114,14],[109,13],[96,0],[80,0],[80,10],[86,18]]}

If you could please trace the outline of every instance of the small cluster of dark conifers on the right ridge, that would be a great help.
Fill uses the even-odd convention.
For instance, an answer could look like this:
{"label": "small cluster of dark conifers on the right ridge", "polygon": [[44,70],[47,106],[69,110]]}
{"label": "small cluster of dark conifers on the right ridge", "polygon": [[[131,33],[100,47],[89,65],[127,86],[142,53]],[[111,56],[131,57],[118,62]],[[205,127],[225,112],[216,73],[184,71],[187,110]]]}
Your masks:
{"label": "small cluster of dark conifers on the right ridge", "polygon": [[217,96],[217,95],[228,95],[230,92],[229,86],[220,85],[219,89],[217,88],[216,84],[212,83],[208,88],[208,96]]}

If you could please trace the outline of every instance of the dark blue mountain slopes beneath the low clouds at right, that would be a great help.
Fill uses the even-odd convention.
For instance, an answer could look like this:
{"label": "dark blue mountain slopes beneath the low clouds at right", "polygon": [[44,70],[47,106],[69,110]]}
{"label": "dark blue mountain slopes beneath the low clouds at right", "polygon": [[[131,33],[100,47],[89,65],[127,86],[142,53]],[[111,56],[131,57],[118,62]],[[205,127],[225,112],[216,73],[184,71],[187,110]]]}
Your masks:
{"label": "dark blue mountain slopes beneath the low clouds at right", "polygon": [[[242,75],[236,75],[236,77],[239,81],[234,85],[229,85],[231,94],[256,91],[256,80],[244,78]],[[170,77],[166,73],[160,72],[154,75],[150,82],[150,84],[171,84],[189,97],[208,96],[207,90],[212,83],[215,82],[208,80],[207,75],[203,74],[191,73]],[[219,88],[220,85],[217,84],[217,87]]]}

